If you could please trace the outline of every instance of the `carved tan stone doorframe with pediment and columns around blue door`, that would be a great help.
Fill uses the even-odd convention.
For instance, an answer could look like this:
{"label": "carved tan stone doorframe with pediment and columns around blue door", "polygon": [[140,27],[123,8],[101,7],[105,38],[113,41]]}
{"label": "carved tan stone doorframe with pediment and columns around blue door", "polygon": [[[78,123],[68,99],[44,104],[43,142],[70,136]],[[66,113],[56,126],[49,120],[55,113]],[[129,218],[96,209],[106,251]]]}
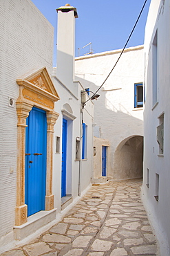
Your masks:
{"label": "carved tan stone doorframe with pediment and columns around blue door", "polygon": [[54,111],[54,102],[59,95],[47,73],[46,68],[17,79],[19,84],[19,98],[17,106],[17,205],[15,208],[15,225],[27,222],[27,205],[25,204],[25,127],[32,107],[39,107],[46,111],[47,116],[47,166],[46,166],[46,195],[45,210],[54,208],[52,194],[52,162],[53,162],[53,134],[54,125],[59,113]]}

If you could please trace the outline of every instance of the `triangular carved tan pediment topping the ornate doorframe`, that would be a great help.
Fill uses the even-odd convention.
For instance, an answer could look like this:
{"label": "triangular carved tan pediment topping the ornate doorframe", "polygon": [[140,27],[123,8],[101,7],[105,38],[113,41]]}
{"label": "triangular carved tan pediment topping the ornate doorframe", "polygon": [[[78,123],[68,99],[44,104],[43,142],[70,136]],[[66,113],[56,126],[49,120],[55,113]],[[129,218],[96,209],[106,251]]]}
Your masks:
{"label": "triangular carved tan pediment topping the ornate doorframe", "polygon": [[59,100],[59,95],[56,92],[54,84],[51,80],[49,73],[45,67],[38,71],[32,71],[17,79],[17,84],[29,87],[33,91],[39,91],[39,93],[47,92],[48,95],[53,95],[54,101]]}

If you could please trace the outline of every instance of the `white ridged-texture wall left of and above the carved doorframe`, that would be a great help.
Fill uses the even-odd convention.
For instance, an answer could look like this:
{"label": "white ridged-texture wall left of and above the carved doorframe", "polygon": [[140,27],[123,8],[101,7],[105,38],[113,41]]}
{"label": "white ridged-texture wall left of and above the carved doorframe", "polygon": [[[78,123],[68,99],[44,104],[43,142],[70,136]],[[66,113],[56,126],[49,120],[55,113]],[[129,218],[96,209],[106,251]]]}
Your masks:
{"label": "white ridged-texture wall left of and above the carved doorframe", "polygon": [[[16,205],[17,77],[32,68],[52,73],[52,25],[30,0],[0,2],[0,247],[12,241]],[[9,107],[8,98],[14,99]]]}

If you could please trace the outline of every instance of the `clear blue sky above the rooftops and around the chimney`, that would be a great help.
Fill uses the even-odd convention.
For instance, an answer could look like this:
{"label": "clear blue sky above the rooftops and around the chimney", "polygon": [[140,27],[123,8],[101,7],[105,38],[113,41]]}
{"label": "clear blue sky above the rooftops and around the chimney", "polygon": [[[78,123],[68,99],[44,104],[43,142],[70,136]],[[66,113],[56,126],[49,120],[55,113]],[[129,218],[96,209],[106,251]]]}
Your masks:
{"label": "clear blue sky above the rooftops and around the chimney", "polygon": [[[55,28],[53,60],[55,66],[57,8],[65,6],[65,3],[70,3],[70,6],[77,8],[75,54],[78,56],[78,48],[80,48],[80,55],[89,52],[89,46],[82,48],[89,42],[92,42],[94,53],[123,48],[145,0],[32,0],[32,2]],[[151,0],[147,0],[127,47],[144,43],[145,23],[150,2]]]}

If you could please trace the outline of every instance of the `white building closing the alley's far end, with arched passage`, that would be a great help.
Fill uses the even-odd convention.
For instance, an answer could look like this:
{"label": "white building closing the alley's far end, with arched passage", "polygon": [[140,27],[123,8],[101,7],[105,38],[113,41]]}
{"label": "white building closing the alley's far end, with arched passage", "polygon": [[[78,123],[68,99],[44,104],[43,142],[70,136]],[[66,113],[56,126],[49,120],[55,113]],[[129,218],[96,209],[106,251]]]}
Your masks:
{"label": "white building closing the alley's far end, with arched passage", "polygon": [[[76,57],[78,80],[95,93],[121,51]],[[142,176],[143,80],[143,46],[126,48],[95,102],[94,182]]]}

